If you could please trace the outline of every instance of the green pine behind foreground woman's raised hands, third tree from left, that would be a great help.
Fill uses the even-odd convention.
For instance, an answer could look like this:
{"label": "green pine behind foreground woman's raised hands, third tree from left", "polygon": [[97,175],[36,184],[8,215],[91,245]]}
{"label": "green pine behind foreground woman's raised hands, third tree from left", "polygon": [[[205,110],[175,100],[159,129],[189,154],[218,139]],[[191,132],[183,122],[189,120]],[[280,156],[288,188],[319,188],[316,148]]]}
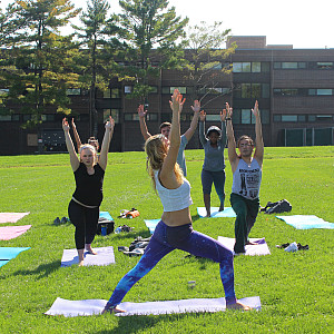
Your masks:
{"label": "green pine behind foreground woman's raised hands, third tree from left", "polygon": [[[135,80],[129,97],[145,99],[150,87],[150,76],[158,76],[161,68],[173,68],[179,57],[178,39],[185,36],[188,19],[181,19],[167,0],[120,0],[120,39],[127,43],[124,58],[125,75]],[[157,61],[154,61],[154,58]]]}

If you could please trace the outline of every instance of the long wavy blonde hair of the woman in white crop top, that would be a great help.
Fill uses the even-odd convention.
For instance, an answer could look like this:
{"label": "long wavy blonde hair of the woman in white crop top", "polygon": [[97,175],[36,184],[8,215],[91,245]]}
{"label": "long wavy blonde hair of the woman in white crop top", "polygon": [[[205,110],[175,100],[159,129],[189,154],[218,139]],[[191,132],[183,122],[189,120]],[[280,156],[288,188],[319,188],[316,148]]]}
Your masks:
{"label": "long wavy blonde hair of the woman in white crop top", "polygon": [[[149,137],[145,143],[145,151],[147,155],[146,169],[151,177],[154,188],[156,189],[155,170],[160,170],[164,160],[168,153],[168,145],[163,135],[155,135]],[[174,173],[178,183],[183,183],[184,174],[176,163]]]}

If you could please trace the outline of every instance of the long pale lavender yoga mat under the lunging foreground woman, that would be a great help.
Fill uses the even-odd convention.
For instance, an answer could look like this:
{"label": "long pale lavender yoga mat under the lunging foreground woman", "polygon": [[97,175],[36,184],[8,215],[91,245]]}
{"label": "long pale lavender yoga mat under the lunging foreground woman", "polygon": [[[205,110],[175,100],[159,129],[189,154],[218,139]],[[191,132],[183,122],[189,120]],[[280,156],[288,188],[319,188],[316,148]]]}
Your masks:
{"label": "long pale lavender yoga mat under the lunging foreground woman", "polygon": [[[247,297],[239,299],[240,303],[255,310],[261,310],[259,297]],[[86,301],[67,301],[57,298],[47,315],[95,315],[100,314],[107,301],[86,299]],[[120,303],[119,308],[125,313],[117,313],[116,316],[128,315],[158,315],[174,313],[198,313],[198,312],[222,312],[226,310],[225,298],[193,298],[180,301],[146,302],[146,303]]]}

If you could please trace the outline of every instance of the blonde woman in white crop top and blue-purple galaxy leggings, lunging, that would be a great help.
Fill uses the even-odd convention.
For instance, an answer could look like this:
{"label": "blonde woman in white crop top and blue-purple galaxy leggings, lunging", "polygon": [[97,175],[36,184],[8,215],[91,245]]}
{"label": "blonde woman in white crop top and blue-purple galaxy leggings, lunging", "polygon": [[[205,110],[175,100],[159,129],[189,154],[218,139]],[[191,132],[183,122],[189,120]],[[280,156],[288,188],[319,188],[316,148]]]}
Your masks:
{"label": "blonde woman in white crop top and blue-purple galaxy leggings, lunging", "polygon": [[234,291],[233,253],[217,240],[193,229],[189,206],[190,185],[176,163],[179,136],[179,114],[185,100],[176,89],[171,96],[173,110],[169,140],[163,135],[147,139],[147,169],[164,205],[161,220],[138,264],[116,286],[102,313],[126,312],[118,307],[127,292],[168,253],[178,248],[219,264],[227,308],[250,310],[237,302]]}

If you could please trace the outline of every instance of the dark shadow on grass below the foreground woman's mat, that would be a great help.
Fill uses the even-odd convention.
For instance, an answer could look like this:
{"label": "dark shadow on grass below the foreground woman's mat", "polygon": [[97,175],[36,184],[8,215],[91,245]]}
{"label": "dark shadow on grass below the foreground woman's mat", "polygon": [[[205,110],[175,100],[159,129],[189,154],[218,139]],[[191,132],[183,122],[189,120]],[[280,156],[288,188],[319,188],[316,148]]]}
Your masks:
{"label": "dark shadow on grass below the foreground woman's mat", "polygon": [[[196,316],[196,313],[191,313]],[[114,315],[110,315],[114,316]],[[119,316],[118,326],[114,330],[106,330],[96,332],[97,334],[131,334],[141,333],[146,330],[154,327],[157,328],[158,324],[177,322],[184,317],[188,317],[189,314],[166,314],[166,315],[132,315],[132,316]],[[150,332],[153,333],[153,332]]]}

